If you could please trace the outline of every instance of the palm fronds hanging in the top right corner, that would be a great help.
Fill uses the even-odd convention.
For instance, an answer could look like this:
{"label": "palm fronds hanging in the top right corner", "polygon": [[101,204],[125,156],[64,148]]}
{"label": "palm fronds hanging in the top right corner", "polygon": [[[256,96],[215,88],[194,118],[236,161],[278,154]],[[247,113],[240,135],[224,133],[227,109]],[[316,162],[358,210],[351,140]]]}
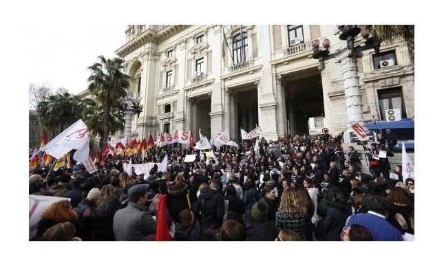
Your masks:
{"label": "palm fronds hanging in the top right corner", "polygon": [[373,37],[379,41],[393,41],[403,38],[407,42],[410,62],[414,66],[414,25],[359,25],[361,29],[372,32]]}

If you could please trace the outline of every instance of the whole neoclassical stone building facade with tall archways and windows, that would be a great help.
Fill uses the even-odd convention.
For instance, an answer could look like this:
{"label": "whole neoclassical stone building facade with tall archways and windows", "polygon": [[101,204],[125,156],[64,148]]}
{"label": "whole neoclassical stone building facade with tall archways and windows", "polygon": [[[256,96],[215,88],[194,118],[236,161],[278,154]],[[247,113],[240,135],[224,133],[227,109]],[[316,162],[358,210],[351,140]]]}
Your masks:
{"label": "whole neoclassical stone building facade with tall archways and windows", "polygon": [[[326,60],[319,71],[312,41],[329,38],[330,50],[345,41],[335,25],[129,25],[116,50],[131,76],[129,92],[143,111],[131,137],[198,129],[215,139],[229,129],[262,127],[266,139],[346,131],[348,97],[341,65]],[[224,38],[226,36],[226,38]],[[225,41],[226,39],[226,41]],[[355,38],[355,46],[365,39]],[[226,46],[228,45],[228,46]],[[222,51],[224,50],[224,52]],[[405,41],[367,49],[357,67],[363,121],[386,120],[388,109],[414,118],[414,67]],[[361,110],[361,109],[359,109]]]}

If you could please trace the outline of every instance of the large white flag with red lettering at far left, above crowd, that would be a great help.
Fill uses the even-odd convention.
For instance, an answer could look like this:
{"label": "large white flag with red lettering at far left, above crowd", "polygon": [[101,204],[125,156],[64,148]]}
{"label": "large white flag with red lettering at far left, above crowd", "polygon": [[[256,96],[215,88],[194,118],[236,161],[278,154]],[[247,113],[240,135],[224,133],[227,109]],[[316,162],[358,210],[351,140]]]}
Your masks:
{"label": "large white flag with red lettering at far left, above crowd", "polygon": [[54,137],[40,148],[40,151],[59,159],[73,149],[77,150],[73,157],[76,161],[84,162],[87,159],[89,154],[89,130],[81,119]]}

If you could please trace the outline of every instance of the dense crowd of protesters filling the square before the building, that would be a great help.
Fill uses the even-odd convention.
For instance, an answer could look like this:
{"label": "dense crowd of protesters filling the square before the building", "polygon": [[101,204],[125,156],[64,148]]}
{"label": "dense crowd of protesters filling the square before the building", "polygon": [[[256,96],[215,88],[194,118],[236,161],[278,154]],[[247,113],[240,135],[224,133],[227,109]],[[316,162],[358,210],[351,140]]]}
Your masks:
{"label": "dense crowd of protesters filling the square before the building", "polygon": [[[132,164],[168,155],[167,170],[154,166],[149,176],[125,173],[123,155],[108,155],[92,174],[81,164],[32,168],[30,195],[68,199],[43,212],[32,241],[154,240],[161,195],[173,241],[414,239],[414,179],[403,180],[401,166],[390,178],[385,143],[371,144],[368,159],[344,149],[340,135],[262,137],[259,155],[254,144],[213,147],[211,155],[181,144],[131,155]],[[195,162],[184,162],[190,154]]]}

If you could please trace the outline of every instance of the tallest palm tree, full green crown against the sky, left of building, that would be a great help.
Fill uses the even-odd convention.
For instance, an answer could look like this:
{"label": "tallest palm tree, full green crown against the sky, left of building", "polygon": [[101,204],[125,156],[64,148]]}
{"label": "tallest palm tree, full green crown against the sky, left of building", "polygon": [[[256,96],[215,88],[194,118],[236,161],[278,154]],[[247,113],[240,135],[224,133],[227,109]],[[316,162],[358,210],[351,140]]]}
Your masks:
{"label": "tallest palm tree, full green crown against the sky, left of building", "polygon": [[112,120],[116,101],[127,96],[129,76],[122,72],[125,62],[122,58],[105,59],[103,56],[98,56],[98,58],[99,63],[88,67],[91,70],[91,76],[88,78],[88,90],[96,96],[103,107],[101,125],[98,125],[102,129],[96,128],[97,133],[101,136],[100,147],[103,149],[109,133],[113,129],[113,123],[116,122]]}

